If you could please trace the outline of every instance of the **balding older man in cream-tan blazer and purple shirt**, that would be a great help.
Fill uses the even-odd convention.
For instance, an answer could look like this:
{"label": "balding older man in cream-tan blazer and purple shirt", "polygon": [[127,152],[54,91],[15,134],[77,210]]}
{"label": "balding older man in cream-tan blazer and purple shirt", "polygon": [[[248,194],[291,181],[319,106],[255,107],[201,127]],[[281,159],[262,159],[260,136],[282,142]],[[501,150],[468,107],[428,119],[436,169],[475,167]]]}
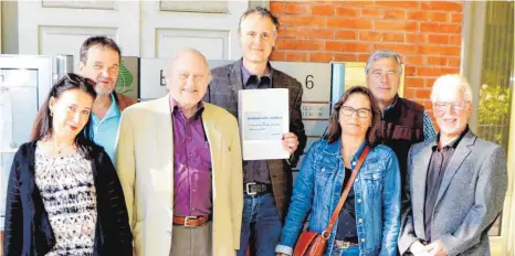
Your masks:
{"label": "balding older man in cream-tan blazer and purple shirt", "polygon": [[206,57],[165,68],[169,94],[127,108],[116,166],[138,256],[230,256],[240,247],[242,158],[237,119],[203,103]]}

